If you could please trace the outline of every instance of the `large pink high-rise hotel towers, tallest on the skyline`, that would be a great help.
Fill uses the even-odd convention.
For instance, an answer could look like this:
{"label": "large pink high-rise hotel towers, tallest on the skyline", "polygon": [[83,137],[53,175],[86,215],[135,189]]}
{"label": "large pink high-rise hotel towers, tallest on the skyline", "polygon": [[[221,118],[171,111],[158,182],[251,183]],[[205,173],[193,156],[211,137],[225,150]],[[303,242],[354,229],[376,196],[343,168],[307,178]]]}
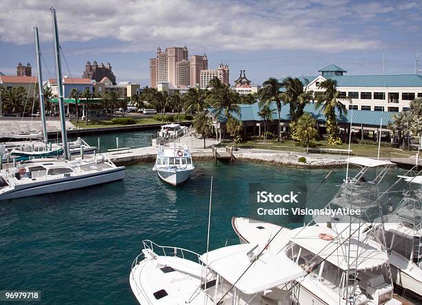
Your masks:
{"label": "large pink high-rise hotel towers, tallest on the skyline", "polygon": [[157,55],[150,59],[150,85],[168,82],[170,87],[199,85],[201,70],[208,69],[206,55],[192,55],[188,59],[188,48],[171,47],[164,52],[157,48]]}

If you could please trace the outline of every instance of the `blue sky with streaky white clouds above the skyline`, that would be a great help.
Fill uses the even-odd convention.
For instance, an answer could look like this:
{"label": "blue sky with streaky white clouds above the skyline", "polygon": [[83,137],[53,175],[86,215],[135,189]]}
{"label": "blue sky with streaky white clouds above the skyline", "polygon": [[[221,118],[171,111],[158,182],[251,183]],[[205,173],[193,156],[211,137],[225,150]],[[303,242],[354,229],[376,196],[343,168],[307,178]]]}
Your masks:
{"label": "blue sky with streaky white clouds above the skyline", "polygon": [[43,78],[54,76],[51,6],[63,75],[81,77],[86,61],[110,62],[117,81],[142,86],[158,46],[206,53],[209,69],[227,63],[231,83],[239,70],[262,83],[316,76],[330,63],[346,75],[382,74],[383,54],[385,74],[413,74],[422,50],[421,0],[0,0],[0,72],[15,75],[19,61],[35,67],[37,24]]}

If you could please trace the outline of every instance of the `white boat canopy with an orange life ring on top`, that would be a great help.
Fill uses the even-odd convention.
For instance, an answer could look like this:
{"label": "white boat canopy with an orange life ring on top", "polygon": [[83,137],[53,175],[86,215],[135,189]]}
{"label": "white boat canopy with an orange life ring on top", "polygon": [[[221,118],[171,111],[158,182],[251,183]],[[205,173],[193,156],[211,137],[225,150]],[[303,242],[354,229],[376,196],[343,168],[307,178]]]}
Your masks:
{"label": "white boat canopy with an orange life ring on top", "polygon": [[[291,239],[294,244],[338,266],[343,271],[367,270],[388,263],[388,256],[383,251],[363,242],[358,244],[354,238],[345,241],[343,237],[338,237],[334,230],[327,227],[310,226],[294,229],[294,231],[297,231]],[[334,240],[325,240],[320,237],[321,234],[332,236]],[[350,258],[350,267],[348,267],[348,253],[353,254]]]}

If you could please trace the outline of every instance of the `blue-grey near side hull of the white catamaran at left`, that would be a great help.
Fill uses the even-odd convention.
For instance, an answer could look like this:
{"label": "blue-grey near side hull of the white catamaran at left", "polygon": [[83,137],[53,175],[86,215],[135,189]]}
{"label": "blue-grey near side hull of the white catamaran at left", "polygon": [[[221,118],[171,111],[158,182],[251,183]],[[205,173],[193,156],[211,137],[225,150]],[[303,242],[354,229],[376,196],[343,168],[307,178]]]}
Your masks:
{"label": "blue-grey near side hull of the white catamaran at left", "polygon": [[47,180],[33,186],[18,185],[22,189],[10,189],[0,193],[0,200],[16,199],[29,196],[36,196],[45,193],[56,193],[58,191],[68,191],[70,189],[80,189],[92,185],[112,182],[125,178],[125,167],[117,167],[108,172],[92,173],[86,176],[69,177],[67,179]]}

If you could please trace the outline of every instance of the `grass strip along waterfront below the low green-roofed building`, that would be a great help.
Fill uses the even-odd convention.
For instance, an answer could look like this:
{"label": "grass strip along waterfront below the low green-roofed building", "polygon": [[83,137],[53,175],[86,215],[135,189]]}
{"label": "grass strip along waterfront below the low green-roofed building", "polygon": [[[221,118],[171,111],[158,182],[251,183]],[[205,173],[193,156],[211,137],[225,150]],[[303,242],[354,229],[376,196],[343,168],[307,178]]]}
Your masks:
{"label": "grass strip along waterfront below the low green-roofed building", "polygon": [[[382,144],[382,142],[381,142]],[[314,150],[311,150],[314,148]],[[296,152],[305,152],[306,147],[301,147],[297,145],[297,142],[294,140],[281,140],[277,142],[277,140],[266,140],[263,143],[263,140],[248,140],[243,143],[239,143],[239,147],[250,147],[250,148],[257,148],[257,149],[274,149],[274,150],[281,150],[281,151],[296,151]],[[341,145],[328,145],[326,140],[321,141],[312,141],[310,145],[310,153],[319,154],[319,148],[322,149],[348,149],[349,145],[343,143]],[[354,144],[350,145],[350,149],[352,149],[353,156],[365,156],[365,157],[373,157],[376,158],[378,154],[378,145],[367,145],[367,144]],[[346,152],[342,152],[341,154],[347,154]],[[383,147],[381,146],[380,149],[380,157],[388,157],[388,158],[407,158],[408,156],[415,156],[416,151],[408,151],[403,149],[397,149],[394,147]]]}

